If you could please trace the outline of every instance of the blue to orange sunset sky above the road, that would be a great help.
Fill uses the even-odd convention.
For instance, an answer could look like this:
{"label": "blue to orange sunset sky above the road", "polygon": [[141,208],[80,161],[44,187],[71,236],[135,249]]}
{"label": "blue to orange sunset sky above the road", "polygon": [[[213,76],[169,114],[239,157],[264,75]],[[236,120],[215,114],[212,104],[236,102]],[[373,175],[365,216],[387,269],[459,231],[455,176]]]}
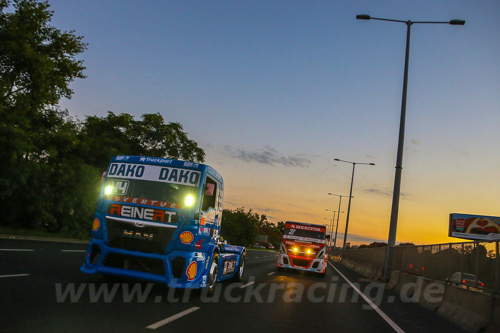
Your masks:
{"label": "blue to orange sunset sky above the road", "polygon": [[223,176],[225,208],[326,223],[352,171],[333,159],[375,163],[356,166],[351,244],[387,241],[406,37],[356,14],[465,19],[411,27],[396,241],[459,241],[452,212],[500,216],[497,0],[49,3],[89,44],[61,107],[180,122]]}

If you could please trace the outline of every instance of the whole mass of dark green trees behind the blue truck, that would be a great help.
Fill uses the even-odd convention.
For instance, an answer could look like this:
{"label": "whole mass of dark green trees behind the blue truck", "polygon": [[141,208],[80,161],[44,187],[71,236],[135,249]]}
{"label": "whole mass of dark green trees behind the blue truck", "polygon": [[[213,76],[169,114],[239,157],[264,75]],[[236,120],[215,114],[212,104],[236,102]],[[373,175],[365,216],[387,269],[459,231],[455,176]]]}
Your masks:
{"label": "whole mass of dark green trees behind the blue truck", "polygon": [[202,162],[205,153],[159,113],[76,122],[60,110],[69,83],[85,77],[75,56],[86,44],[74,30],[51,26],[48,8],[47,1],[0,0],[0,224],[88,236],[100,174],[113,155]]}

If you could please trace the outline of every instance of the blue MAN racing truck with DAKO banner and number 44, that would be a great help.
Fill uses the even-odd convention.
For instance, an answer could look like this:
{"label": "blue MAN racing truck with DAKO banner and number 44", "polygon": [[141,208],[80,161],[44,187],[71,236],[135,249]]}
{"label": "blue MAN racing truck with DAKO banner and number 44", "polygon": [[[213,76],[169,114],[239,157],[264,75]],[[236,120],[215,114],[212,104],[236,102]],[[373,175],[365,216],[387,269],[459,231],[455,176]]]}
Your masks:
{"label": "blue MAN racing truck with DAKO banner and number 44", "polygon": [[218,246],[224,183],[208,165],[115,156],[103,174],[83,273],[206,288],[243,277],[245,248]]}

